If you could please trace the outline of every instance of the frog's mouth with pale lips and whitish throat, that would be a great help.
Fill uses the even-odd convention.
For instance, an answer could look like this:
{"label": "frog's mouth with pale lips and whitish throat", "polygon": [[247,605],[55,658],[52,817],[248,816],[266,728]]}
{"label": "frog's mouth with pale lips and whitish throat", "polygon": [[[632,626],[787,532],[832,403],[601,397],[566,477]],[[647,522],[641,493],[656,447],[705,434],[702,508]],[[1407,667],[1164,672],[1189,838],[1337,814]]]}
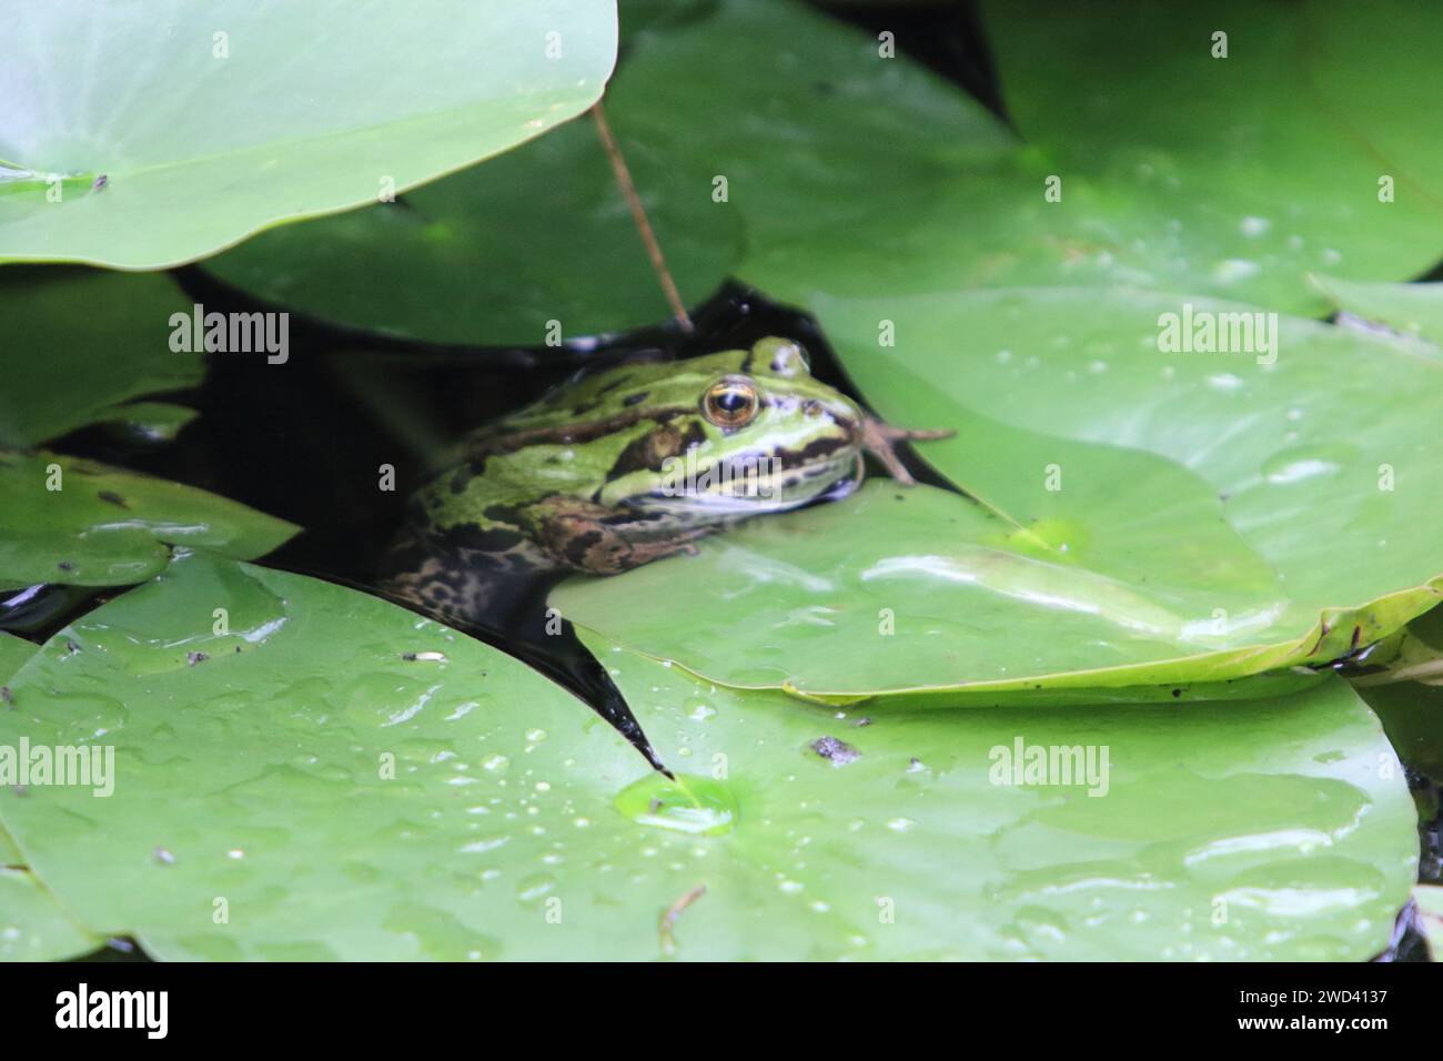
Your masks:
{"label": "frog's mouth with pale lips and whitish throat", "polygon": [[[851,494],[863,476],[861,450],[838,446],[805,459],[743,456],[706,468],[680,465],[662,485],[633,505],[697,523],[785,512],[812,501]],[[680,472],[680,473],[677,473]]]}

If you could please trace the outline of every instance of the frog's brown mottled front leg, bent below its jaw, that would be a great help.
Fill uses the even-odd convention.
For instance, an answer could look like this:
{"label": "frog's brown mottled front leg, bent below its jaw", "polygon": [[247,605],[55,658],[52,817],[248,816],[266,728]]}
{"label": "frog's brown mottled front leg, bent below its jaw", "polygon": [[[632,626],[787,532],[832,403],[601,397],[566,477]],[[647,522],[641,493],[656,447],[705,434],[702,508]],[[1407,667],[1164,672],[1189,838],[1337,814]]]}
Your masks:
{"label": "frog's brown mottled front leg, bent below its jaw", "polygon": [[713,527],[677,528],[628,508],[553,494],[527,505],[521,520],[531,538],[558,564],[586,575],[620,575],[677,553]]}

